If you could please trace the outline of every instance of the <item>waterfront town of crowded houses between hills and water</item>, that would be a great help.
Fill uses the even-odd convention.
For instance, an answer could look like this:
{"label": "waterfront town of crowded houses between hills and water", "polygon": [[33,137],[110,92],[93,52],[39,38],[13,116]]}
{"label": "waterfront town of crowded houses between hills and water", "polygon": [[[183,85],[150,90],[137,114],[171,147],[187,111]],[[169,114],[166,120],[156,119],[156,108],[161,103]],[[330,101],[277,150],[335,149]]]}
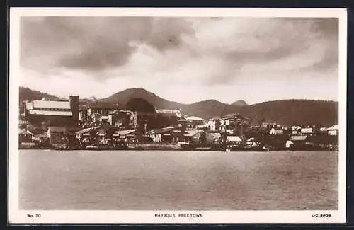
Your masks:
{"label": "waterfront town of crowded houses between hills and water", "polygon": [[155,108],[143,98],[127,105],[42,98],[19,105],[20,149],[205,151],[338,150],[338,125],[252,124],[227,114],[202,118]]}

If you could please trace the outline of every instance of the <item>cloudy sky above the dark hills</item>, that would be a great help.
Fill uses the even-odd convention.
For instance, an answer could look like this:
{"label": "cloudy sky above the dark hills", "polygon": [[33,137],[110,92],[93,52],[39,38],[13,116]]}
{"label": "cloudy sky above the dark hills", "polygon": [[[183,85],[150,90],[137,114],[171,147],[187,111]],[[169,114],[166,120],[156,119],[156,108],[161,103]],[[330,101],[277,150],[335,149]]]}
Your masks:
{"label": "cloudy sky above the dark hills", "polygon": [[338,100],[336,18],[23,17],[21,86],[105,98]]}

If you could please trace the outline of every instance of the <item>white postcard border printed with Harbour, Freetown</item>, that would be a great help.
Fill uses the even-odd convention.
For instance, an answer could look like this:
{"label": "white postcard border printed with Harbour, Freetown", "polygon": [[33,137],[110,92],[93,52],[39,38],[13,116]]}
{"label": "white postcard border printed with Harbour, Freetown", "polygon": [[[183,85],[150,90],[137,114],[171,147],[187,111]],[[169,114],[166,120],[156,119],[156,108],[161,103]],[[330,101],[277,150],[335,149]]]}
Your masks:
{"label": "white postcard border printed with Harbour, Freetown", "polygon": [[[338,210],[311,211],[45,211],[18,209],[19,18],[21,16],[190,16],[339,18]],[[8,217],[15,223],[345,223],[346,222],[346,59],[345,8],[11,8],[9,76]],[[11,106],[10,106],[11,105]],[[175,217],[155,217],[175,214]],[[178,217],[201,214],[202,217]],[[329,215],[331,217],[329,217]],[[32,216],[32,217],[30,217]]]}

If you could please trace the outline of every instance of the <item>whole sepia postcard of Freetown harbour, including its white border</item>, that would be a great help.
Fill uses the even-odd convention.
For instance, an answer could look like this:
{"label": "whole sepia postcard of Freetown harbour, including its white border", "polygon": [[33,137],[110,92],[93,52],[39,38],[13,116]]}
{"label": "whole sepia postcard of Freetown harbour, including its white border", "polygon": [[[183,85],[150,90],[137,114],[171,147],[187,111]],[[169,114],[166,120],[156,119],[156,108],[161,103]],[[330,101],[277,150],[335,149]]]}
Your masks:
{"label": "whole sepia postcard of Freetown harbour, including its white border", "polygon": [[10,222],[345,222],[346,20],[11,8]]}

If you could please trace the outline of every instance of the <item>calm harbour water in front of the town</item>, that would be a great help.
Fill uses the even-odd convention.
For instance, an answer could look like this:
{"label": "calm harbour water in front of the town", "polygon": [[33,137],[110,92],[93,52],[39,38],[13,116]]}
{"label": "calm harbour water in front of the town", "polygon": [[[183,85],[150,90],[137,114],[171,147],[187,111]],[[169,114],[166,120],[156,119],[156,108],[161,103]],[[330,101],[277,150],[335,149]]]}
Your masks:
{"label": "calm harbour water in front of the town", "polygon": [[338,209],[336,151],[21,150],[20,209]]}

